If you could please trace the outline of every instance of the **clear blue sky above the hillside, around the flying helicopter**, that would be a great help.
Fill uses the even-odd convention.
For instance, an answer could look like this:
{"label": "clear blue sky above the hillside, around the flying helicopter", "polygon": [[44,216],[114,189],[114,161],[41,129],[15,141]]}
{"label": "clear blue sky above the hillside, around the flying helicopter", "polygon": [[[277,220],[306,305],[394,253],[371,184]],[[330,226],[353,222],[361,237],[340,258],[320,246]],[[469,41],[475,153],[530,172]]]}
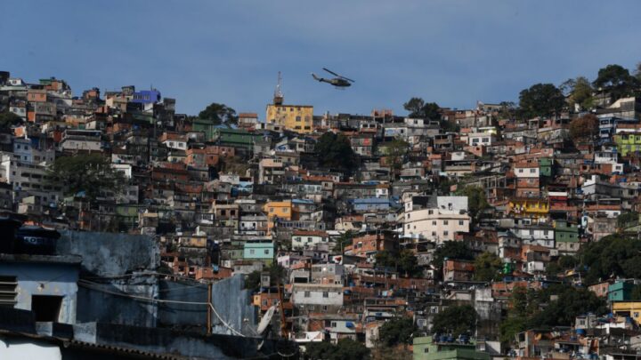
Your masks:
{"label": "clear blue sky above the hillside, around the flying helicopter", "polygon": [[[75,94],[134,84],[197,114],[210,102],[264,119],[278,71],[285,101],[369,114],[412,96],[442,107],[517,100],[531,84],[593,80],[641,61],[639,1],[0,2],[0,69],[56,76]],[[356,80],[313,81],[327,67]]]}

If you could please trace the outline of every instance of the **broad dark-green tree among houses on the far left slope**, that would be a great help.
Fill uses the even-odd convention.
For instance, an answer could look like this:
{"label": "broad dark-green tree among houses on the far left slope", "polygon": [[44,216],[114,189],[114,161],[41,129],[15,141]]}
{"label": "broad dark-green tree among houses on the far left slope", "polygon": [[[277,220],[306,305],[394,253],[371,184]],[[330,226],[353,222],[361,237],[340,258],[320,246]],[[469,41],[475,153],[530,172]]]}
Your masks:
{"label": "broad dark-green tree among houses on the far left slope", "polygon": [[49,180],[55,187],[63,188],[65,194],[84,192],[93,201],[103,190],[117,191],[122,187],[122,172],[111,167],[101,154],[79,154],[55,159],[49,169]]}

